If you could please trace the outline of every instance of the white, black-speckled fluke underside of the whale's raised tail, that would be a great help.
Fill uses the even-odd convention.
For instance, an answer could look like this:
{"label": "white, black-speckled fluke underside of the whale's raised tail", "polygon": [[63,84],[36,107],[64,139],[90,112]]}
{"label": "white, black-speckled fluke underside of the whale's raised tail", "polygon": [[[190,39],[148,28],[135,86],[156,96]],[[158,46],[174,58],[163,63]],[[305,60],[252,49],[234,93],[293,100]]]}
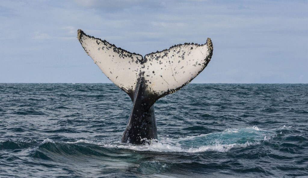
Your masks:
{"label": "white, black-speckled fluke underside of the whale's raised tail", "polygon": [[181,44],[144,58],[117,48],[107,41],[78,30],[78,39],[95,64],[116,86],[134,91],[137,79],[144,76],[147,89],[158,95],[172,93],[195,78],[208,64],[213,45]]}

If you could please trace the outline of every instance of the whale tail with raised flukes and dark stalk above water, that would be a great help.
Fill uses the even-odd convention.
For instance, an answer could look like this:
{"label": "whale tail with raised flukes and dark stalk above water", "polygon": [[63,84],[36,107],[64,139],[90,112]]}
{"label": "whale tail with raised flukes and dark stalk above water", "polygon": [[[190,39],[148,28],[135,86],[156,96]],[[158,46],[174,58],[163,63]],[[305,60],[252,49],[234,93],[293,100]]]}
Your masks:
{"label": "whale tail with raised flukes and dark stalk above water", "polygon": [[191,82],[208,65],[213,54],[210,38],[205,44],[178,44],[144,57],[80,29],[77,38],[108,79],[132,99],[132,111],[121,141],[136,145],[157,140],[154,103]]}

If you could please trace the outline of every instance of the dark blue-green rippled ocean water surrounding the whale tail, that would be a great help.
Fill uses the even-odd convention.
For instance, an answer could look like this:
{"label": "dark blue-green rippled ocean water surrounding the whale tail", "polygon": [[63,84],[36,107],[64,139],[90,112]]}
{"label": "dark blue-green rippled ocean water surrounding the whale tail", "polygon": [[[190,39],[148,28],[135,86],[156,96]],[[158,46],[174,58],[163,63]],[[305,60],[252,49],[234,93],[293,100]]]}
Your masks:
{"label": "dark blue-green rippled ocean water surrounding the whale tail", "polygon": [[188,84],[155,103],[158,143],[120,143],[114,84],[0,84],[0,177],[308,176],[308,84]]}

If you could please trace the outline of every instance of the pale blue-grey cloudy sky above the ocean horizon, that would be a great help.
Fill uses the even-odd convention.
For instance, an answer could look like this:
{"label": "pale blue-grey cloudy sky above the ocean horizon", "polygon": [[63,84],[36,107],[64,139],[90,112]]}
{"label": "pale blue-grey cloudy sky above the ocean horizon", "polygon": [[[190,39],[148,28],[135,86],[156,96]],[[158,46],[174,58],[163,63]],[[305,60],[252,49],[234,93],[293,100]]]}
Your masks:
{"label": "pale blue-grey cloudy sky above the ocean horizon", "polygon": [[111,83],[77,29],[146,55],[213,42],[192,83],[308,83],[308,1],[1,0],[0,83]]}

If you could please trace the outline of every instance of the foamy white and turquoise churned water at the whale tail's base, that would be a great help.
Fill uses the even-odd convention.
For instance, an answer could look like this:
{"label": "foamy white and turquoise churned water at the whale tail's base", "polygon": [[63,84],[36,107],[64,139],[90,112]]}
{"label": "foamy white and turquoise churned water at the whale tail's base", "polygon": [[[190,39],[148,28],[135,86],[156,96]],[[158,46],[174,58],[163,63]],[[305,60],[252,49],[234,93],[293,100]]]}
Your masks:
{"label": "foamy white and turquoise churned water at the whale tail's base", "polygon": [[186,152],[200,153],[207,151],[227,152],[235,148],[245,148],[258,145],[260,141],[269,141],[275,137],[273,133],[259,129],[257,126],[245,129],[227,129],[222,132],[201,134],[180,138],[161,138],[157,140],[146,140],[147,145],[131,145],[119,142],[105,143],[101,141],[77,140],[68,141],[69,144],[88,143],[100,145],[107,148],[131,149],[135,151],[153,152]]}

